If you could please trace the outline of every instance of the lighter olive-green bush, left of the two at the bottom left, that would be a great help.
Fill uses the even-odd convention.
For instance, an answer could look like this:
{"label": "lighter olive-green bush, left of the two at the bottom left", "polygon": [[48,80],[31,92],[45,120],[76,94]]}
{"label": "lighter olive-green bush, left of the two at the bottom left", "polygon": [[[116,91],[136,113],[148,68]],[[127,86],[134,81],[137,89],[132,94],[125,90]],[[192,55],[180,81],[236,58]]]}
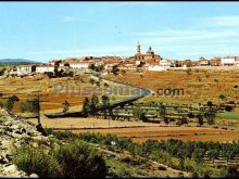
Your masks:
{"label": "lighter olive-green bush, left of the two at the bottom left", "polygon": [[55,177],[59,168],[56,159],[42,149],[20,149],[13,163],[27,175],[37,174],[39,177]]}

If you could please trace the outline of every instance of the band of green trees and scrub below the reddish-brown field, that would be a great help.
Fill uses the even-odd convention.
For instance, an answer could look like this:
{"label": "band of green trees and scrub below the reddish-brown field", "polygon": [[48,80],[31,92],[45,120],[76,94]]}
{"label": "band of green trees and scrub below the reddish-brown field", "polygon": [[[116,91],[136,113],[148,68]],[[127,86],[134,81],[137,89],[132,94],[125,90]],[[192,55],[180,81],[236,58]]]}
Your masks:
{"label": "band of green trees and scrub below the reddish-brown field", "polygon": [[[148,140],[139,144],[134,143],[130,139],[117,138],[112,135],[63,133],[55,132],[54,135],[60,139],[83,139],[87,142],[104,145],[115,152],[128,151],[131,155],[151,158],[175,169],[191,171],[194,176],[200,177],[226,177],[231,175],[228,167],[210,166],[204,158],[207,157],[212,161],[219,157],[231,159],[238,156],[239,153],[239,142],[184,142],[172,139],[166,141]],[[112,145],[112,142],[115,144]]]}

